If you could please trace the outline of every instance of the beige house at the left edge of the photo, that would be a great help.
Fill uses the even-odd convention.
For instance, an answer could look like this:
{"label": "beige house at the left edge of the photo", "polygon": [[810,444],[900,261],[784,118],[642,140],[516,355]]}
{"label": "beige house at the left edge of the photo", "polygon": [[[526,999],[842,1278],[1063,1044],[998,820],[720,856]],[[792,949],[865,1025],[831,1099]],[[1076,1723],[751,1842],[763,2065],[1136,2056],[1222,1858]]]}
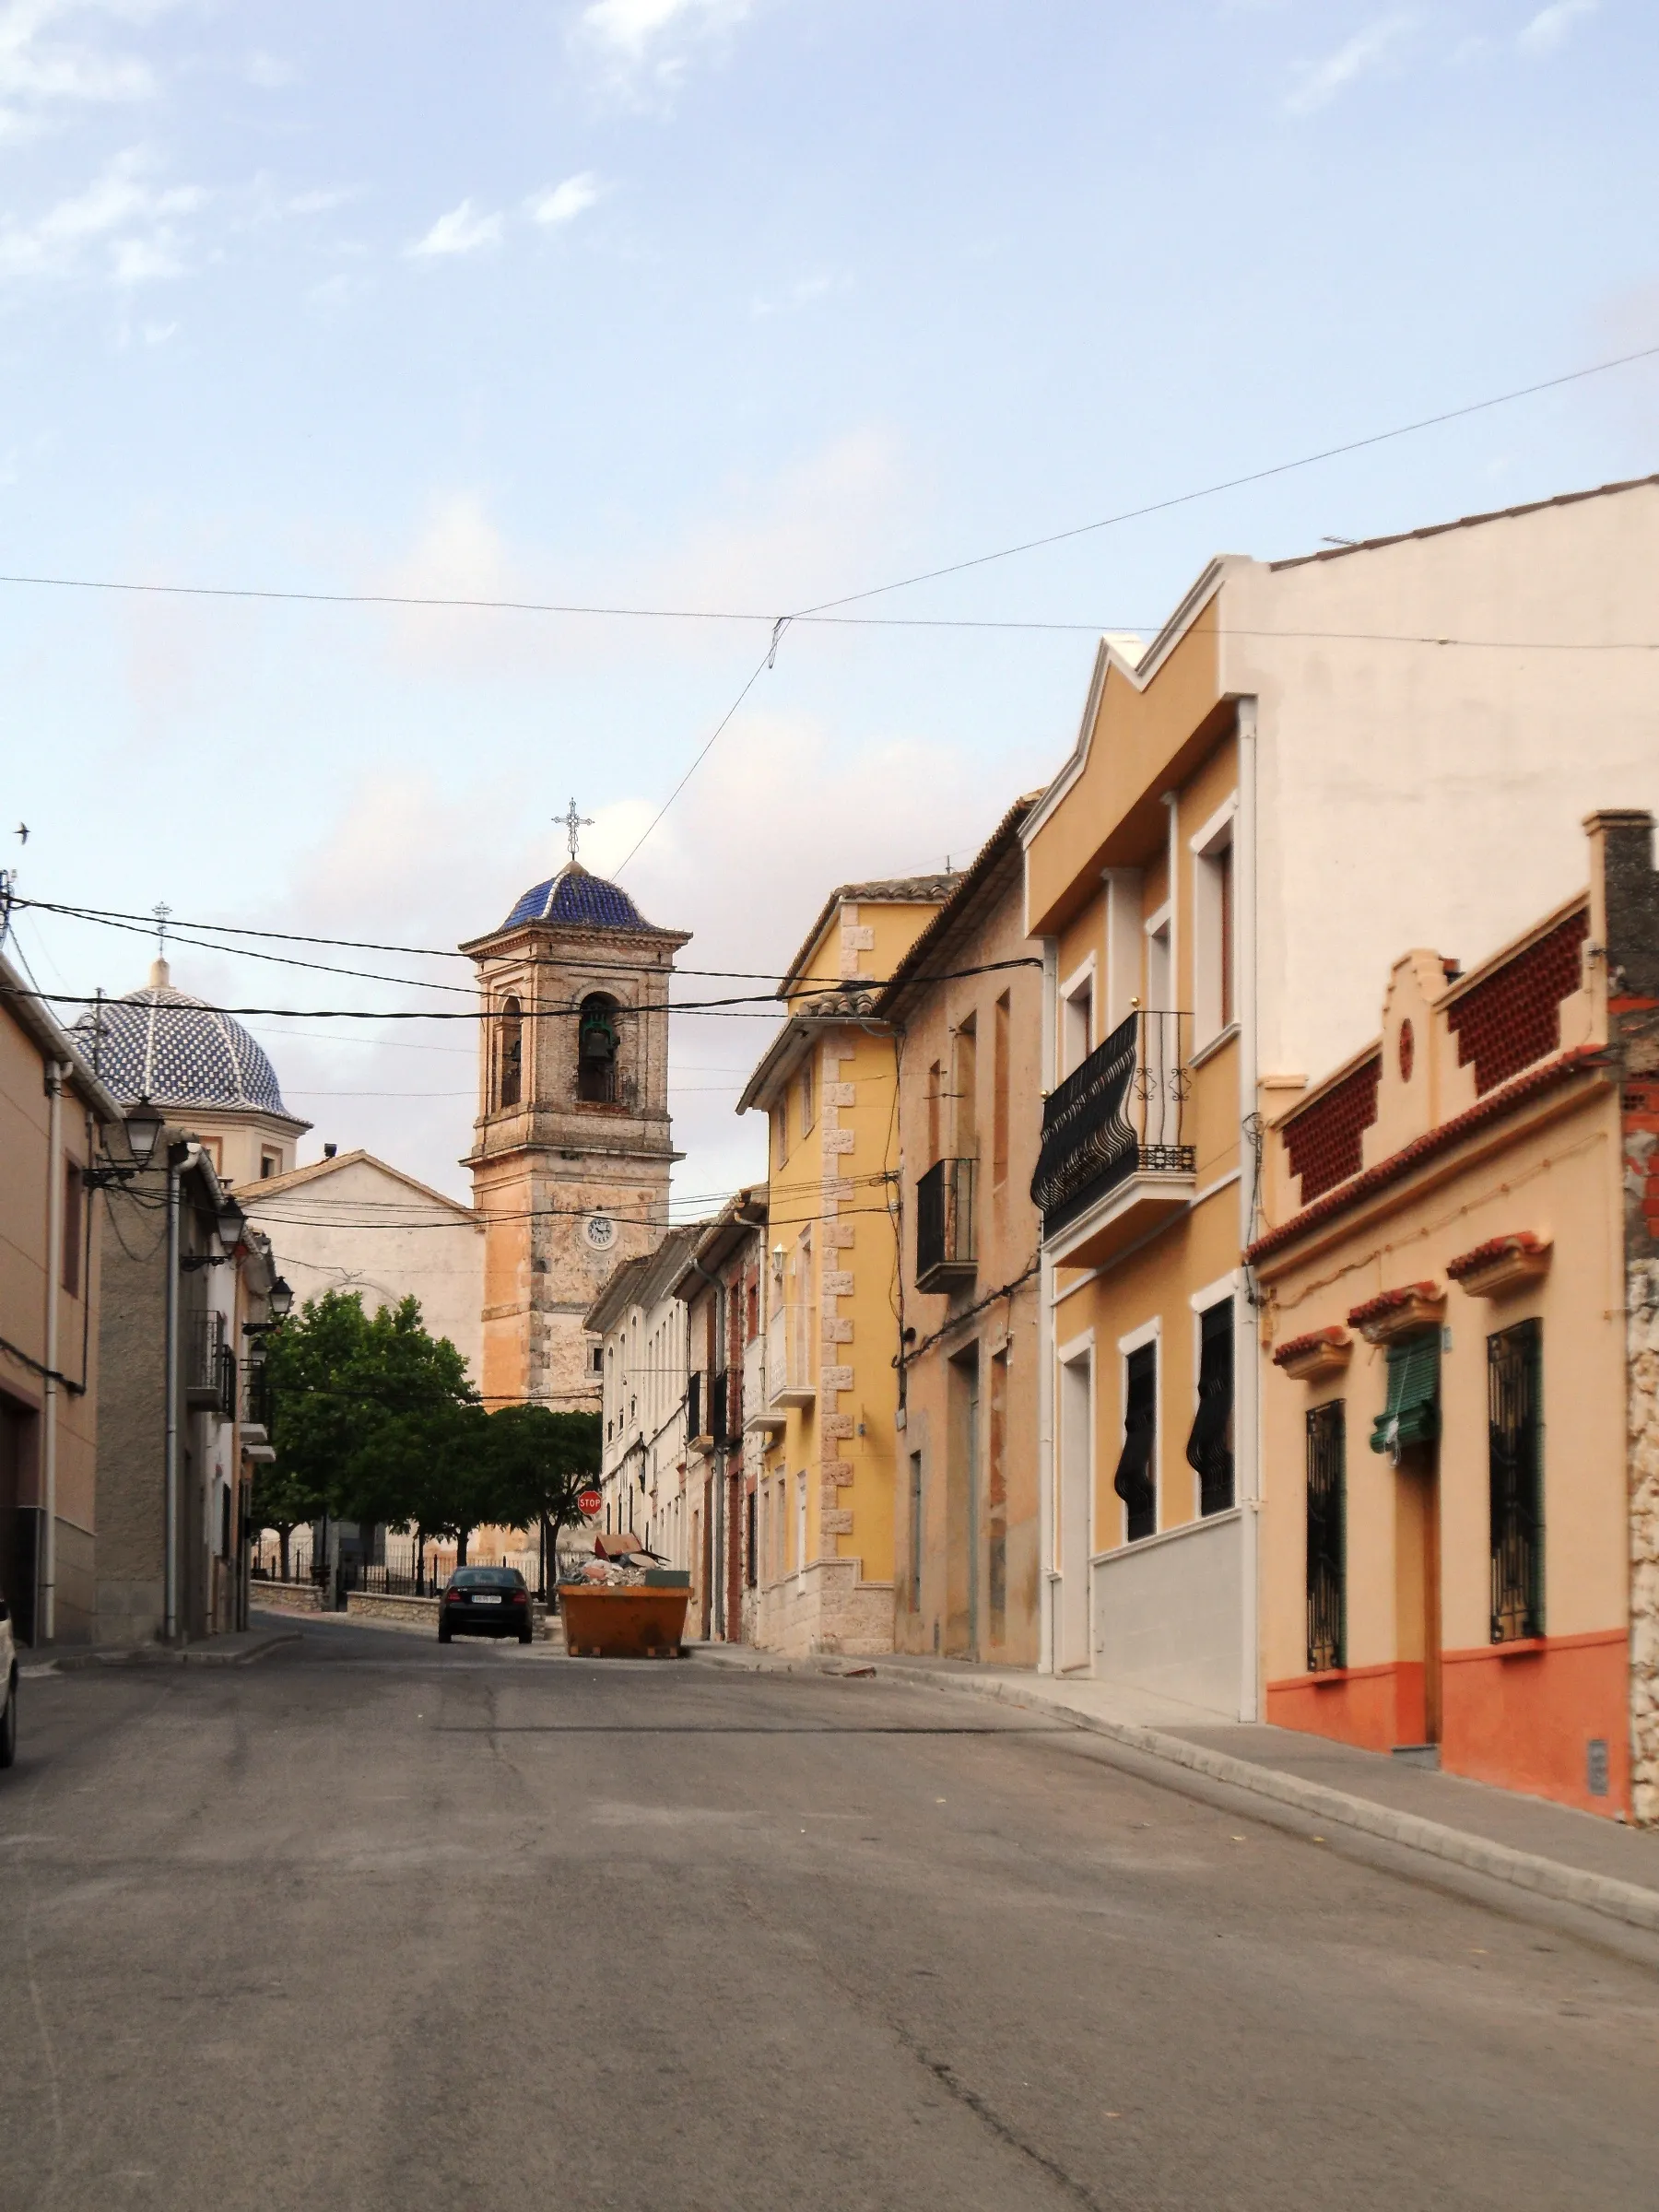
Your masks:
{"label": "beige house at the left edge of the photo", "polygon": [[119,1119],[0,956],[0,1595],[20,1644],[93,1635],[102,1201],[84,1177]]}

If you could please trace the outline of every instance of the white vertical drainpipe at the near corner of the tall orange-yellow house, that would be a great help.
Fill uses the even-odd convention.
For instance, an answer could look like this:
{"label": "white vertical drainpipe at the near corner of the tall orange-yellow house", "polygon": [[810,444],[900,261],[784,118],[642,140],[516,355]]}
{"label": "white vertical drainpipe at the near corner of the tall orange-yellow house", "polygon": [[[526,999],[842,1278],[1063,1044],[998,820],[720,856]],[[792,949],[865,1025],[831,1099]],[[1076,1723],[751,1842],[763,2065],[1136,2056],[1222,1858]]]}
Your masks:
{"label": "white vertical drainpipe at the near corner of the tall orange-yellow house", "polygon": [[1239,818],[1232,834],[1234,891],[1239,898],[1237,989],[1239,989],[1239,1281],[1234,1301],[1234,1433],[1241,1453],[1243,1504],[1243,1652],[1239,1657],[1239,1719],[1261,1717],[1261,1327],[1256,1285],[1243,1254],[1256,1234],[1256,1146],[1261,1144],[1261,1091],[1256,1082],[1261,1037],[1256,1013],[1256,701],[1239,701]]}

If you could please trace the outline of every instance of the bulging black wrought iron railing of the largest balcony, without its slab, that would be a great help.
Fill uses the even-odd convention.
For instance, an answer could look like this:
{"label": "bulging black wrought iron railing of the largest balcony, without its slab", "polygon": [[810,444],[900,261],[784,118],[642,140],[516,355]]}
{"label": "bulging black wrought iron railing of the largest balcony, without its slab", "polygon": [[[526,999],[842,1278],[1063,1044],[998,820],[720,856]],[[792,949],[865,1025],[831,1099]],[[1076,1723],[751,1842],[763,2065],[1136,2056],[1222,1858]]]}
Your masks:
{"label": "bulging black wrought iron railing of the largest balcony, without its slab", "polygon": [[1031,1201],[1055,1237],[1133,1175],[1192,1175],[1181,1113],[1192,1018],[1141,1009],[1048,1093]]}

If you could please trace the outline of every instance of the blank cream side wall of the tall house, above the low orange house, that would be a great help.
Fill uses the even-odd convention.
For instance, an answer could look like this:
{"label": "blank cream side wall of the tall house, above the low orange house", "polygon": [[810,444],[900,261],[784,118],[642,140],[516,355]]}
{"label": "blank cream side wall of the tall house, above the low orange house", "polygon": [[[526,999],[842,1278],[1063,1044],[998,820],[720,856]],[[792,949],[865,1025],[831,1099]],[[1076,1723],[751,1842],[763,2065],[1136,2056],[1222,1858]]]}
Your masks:
{"label": "blank cream side wall of the tall house, above the low orange house", "polygon": [[1582,887],[1586,814],[1659,805],[1659,661],[1619,650],[1652,633],[1655,573],[1659,484],[1225,564],[1219,681],[1259,699],[1263,1073],[1336,1066],[1400,947],[1473,967]]}

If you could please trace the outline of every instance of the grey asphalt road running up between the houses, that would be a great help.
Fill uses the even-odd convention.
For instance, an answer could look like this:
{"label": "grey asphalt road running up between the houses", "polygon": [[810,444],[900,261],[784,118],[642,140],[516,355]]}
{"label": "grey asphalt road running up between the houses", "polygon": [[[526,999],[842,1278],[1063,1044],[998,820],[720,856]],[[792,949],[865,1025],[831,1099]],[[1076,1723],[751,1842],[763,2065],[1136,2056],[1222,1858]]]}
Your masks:
{"label": "grey asphalt road running up between the houses", "polygon": [[874,1681],[24,1683],[2,2212],[1641,2208],[1659,1975]]}

